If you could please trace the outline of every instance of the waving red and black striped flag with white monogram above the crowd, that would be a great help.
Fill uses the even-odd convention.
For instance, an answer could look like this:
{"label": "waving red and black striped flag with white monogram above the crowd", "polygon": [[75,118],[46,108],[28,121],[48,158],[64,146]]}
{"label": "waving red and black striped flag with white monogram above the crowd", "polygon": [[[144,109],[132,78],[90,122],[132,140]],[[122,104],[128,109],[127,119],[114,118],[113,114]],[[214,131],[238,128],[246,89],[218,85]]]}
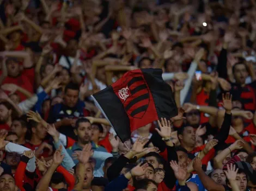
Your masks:
{"label": "waving red and black striped flag with white monogram above the crowd", "polygon": [[131,132],[161,117],[178,114],[172,88],[162,79],[162,69],[135,69],[111,86],[92,95],[96,105],[122,142]]}

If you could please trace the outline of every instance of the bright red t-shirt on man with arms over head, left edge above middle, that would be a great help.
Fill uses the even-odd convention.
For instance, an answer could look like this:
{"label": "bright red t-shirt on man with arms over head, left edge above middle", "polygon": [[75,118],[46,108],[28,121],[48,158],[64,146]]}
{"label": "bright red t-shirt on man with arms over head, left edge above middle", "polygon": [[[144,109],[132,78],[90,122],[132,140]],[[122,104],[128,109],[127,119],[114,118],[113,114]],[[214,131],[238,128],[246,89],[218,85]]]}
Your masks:
{"label": "bright red t-shirt on man with arms over head, left edge above middle", "polygon": [[[2,71],[0,71],[0,75],[2,74]],[[21,75],[19,75],[16,78],[13,77],[7,77],[4,79],[3,84],[16,84],[17,86],[20,86],[22,88],[24,88],[25,90],[34,93],[34,79],[35,79],[35,70],[34,68],[27,68],[24,69],[21,73]],[[5,93],[9,93],[9,92],[5,92]],[[21,101],[27,99],[26,95],[24,95],[21,92],[16,92],[19,96]]]}

